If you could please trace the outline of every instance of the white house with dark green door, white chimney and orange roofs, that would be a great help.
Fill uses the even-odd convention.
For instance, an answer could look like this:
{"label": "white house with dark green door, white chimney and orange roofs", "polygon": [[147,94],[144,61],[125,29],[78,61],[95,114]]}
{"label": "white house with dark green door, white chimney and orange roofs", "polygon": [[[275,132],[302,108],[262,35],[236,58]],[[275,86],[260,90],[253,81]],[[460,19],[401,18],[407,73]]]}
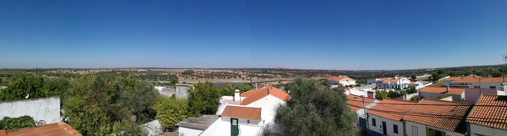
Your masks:
{"label": "white house with dark green door, white chimney and orange roofs", "polygon": [[[199,135],[264,135],[281,134],[274,122],[275,108],[284,104],[290,96],[284,91],[262,86],[234,96],[223,96],[217,111],[220,116]],[[183,133],[185,135],[192,135]]]}

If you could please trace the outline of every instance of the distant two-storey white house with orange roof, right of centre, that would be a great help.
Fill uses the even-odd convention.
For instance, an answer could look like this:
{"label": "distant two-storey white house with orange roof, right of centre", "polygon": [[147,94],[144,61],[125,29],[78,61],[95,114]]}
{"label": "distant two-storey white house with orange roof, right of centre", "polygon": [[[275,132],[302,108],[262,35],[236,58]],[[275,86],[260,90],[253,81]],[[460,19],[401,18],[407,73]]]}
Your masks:
{"label": "distant two-storey white house with orange roof, right of centre", "polygon": [[409,87],[410,80],[404,77],[381,78],[367,81],[368,84],[375,84],[379,89],[405,89]]}

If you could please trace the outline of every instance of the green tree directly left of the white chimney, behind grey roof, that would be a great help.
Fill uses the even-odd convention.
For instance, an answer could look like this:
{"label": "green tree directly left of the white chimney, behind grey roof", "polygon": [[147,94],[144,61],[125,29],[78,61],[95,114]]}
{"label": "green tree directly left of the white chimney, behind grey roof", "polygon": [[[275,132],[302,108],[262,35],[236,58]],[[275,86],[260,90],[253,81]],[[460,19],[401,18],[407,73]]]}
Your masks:
{"label": "green tree directly left of the white chimney, behind grey roof", "polygon": [[220,106],[220,97],[220,90],[210,82],[195,84],[194,88],[189,89],[190,116],[215,114]]}

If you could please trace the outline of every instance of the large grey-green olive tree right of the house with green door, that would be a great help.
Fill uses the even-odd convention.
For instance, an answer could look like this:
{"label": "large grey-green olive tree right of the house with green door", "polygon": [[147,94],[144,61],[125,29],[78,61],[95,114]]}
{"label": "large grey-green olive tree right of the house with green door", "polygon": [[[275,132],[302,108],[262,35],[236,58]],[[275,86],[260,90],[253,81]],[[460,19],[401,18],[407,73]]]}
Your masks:
{"label": "large grey-green olive tree right of the house with green door", "polygon": [[356,114],[347,106],[344,88],[332,90],[315,80],[287,84],[291,99],[276,109],[275,122],[286,135],[354,135]]}

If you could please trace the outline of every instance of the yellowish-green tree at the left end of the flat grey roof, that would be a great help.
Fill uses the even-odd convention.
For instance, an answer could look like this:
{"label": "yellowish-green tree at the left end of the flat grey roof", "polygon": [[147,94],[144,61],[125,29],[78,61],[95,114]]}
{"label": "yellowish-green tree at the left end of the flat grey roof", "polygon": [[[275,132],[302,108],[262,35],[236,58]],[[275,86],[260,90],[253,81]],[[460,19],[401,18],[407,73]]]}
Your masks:
{"label": "yellowish-green tree at the left end of the flat grey roof", "polygon": [[162,126],[169,129],[174,129],[174,124],[185,120],[189,115],[187,100],[174,97],[157,97],[153,109],[158,111],[155,118],[160,121]]}

